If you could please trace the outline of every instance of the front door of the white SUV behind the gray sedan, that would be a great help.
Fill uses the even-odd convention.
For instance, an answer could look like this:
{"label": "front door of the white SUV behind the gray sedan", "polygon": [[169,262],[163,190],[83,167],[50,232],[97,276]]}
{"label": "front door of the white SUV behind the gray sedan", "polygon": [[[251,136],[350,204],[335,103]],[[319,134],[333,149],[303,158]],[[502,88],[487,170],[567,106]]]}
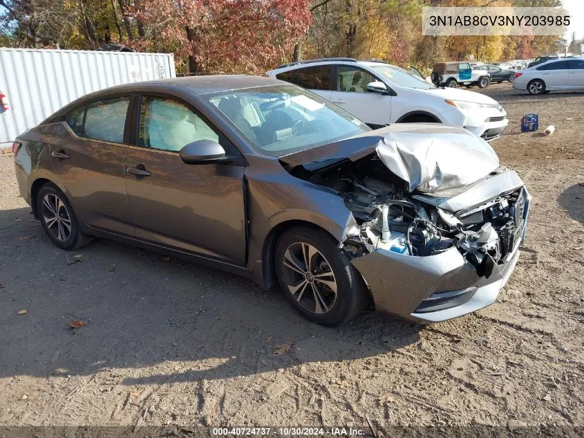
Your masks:
{"label": "front door of the white SUV behind the gray sedan", "polygon": [[370,82],[382,82],[357,66],[339,65],[335,69],[335,89],[330,101],[373,127],[388,125],[391,96],[367,91]]}

